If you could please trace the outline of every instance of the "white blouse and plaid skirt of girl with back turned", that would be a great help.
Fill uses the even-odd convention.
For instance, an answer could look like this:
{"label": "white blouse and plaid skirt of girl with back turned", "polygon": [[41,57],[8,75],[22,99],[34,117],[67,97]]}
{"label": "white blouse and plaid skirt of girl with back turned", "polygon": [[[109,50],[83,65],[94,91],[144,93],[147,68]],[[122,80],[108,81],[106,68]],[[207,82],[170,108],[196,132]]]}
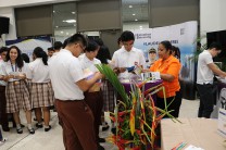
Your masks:
{"label": "white blouse and plaid skirt of girl with back turned", "polygon": [[29,78],[32,79],[30,100],[33,108],[53,105],[53,90],[49,76],[49,66],[42,59],[37,58],[28,64]]}

